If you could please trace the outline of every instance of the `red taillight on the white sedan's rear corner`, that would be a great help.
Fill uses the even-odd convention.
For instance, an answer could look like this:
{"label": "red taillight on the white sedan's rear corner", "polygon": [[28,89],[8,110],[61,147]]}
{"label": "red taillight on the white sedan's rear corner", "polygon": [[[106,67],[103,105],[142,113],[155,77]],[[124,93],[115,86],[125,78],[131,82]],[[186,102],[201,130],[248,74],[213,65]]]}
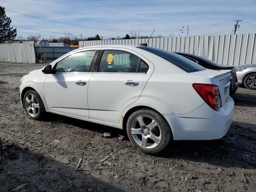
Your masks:
{"label": "red taillight on the white sedan's rear corner", "polygon": [[222,107],[218,86],[194,83],[193,87],[212,109],[218,111]]}

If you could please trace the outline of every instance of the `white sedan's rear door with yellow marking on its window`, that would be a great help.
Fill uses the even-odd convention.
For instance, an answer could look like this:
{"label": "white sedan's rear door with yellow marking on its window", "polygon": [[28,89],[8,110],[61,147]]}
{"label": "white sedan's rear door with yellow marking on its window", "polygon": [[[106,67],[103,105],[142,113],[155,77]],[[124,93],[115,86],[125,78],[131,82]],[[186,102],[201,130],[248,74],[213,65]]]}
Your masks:
{"label": "white sedan's rear door with yellow marking on its window", "polygon": [[154,65],[126,48],[101,48],[88,86],[89,118],[118,123],[124,109],[138,100]]}

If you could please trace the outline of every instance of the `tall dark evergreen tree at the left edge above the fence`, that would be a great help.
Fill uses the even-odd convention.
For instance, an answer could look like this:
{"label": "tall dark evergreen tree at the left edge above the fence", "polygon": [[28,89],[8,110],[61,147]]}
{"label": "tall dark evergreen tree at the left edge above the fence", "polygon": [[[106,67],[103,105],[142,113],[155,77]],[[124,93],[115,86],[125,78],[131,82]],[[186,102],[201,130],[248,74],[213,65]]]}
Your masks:
{"label": "tall dark evergreen tree at the left edge above the fence", "polygon": [[4,7],[0,6],[0,43],[4,41],[12,41],[15,39],[16,28],[10,27],[12,20],[5,14]]}

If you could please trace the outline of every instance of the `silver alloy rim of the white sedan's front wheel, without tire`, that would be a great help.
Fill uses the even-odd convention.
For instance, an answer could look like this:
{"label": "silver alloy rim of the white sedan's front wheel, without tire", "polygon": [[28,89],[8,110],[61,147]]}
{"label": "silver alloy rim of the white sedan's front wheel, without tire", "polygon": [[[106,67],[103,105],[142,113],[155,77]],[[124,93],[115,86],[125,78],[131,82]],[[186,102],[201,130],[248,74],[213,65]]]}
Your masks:
{"label": "silver alloy rim of the white sedan's front wheel, without tire", "polygon": [[25,99],[25,107],[28,114],[32,117],[35,117],[39,113],[39,103],[38,99],[34,94],[28,94]]}

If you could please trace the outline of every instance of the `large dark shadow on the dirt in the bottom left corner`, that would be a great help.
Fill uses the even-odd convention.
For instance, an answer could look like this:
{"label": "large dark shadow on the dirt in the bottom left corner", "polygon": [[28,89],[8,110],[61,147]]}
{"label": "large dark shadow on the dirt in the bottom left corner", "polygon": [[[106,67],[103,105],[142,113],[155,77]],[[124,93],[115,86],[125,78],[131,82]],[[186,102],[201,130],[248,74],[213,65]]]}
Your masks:
{"label": "large dark shadow on the dirt in the bottom left corner", "polygon": [[3,154],[1,191],[126,191],[12,142],[3,140]]}

